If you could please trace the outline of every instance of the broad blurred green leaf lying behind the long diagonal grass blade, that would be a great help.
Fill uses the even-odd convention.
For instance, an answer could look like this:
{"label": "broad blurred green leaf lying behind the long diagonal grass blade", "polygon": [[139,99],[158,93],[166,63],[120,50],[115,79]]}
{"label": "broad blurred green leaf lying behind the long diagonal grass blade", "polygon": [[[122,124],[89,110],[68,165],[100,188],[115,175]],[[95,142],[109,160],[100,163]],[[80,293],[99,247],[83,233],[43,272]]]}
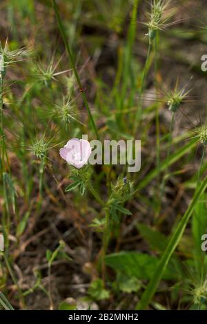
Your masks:
{"label": "broad blurred green leaf lying behind the long diagonal grass blade", "polygon": [[[159,260],[155,256],[150,256],[149,254],[122,251],[106,256],[105,262],[106,265],[115,269],[115,271],[121,271],[127,276],[134,276],[144,280],[152,278]],[[163,278],[170,280],[175,277],[172,271],[166,270]]]}

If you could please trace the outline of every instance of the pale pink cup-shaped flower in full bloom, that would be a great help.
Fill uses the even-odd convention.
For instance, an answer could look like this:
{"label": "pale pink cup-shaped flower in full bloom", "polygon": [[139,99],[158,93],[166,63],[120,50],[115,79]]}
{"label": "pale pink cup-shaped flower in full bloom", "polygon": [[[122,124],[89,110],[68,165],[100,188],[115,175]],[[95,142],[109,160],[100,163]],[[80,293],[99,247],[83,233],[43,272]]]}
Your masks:
{"label": "pale pink cup-shaped flower in full bloom", "polygon": [[72,140],[69,140],[68,143],[59,150],[61,158],[77,169],[81,169],[84,164],[87,164],[90,153],[90,143],[86,140],[79,140],[78,138],[72,138]]}

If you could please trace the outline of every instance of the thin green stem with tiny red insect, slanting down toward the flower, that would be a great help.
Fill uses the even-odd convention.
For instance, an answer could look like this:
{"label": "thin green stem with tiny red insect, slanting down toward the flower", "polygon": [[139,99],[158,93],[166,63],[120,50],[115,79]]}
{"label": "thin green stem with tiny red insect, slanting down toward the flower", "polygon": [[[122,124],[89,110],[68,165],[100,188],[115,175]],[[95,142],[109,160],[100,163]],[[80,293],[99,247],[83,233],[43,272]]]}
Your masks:
{"label": "thin green stem with tiny red insect, slanting down toward the flower", "polygon": [[82,97],[83,102],[84,102],[84,104],[86,106],[86,109],[88,111],[88,116],[89,116],[90,122],[92,124],[92,128],[94,129],[95,134],[97,136],[97,139],[99,140],[99,133],[97,131],[97,126],[95,125],[95,121],[93,120],[92,113],[90,112],[90,108],[89,108],[89,105],[88,105],[88,100],[86,98],[86,93],[83,90],[83,86],[81,84],[81,79],[79,78],[77,68],[75,66],[75,61],[73,59],[72,50],[71,50],[70,45],[68,43],[65,28],[63,27],[63,23],[61,22],[61,18],[60,18],[60,15],[59,15],[59,8],[58,8],[57,3],[56,3],[55,0],[52,0],[52,4],[53,4],[54,11],[55,11],[55,16],[56,16],[57,23],[58,23],[58,26],[59,26],[59,31],[61,33],[61,37],[63,39],[63,42],[64,42],[65,46],[66,46],[68,57],[70,59],[71,65],[72,65],[72,70],[73,70],[73,72],[75,74],[77,84],[79,85],[79,90],[80,90],[80,93],[81,93],[81,97]]}

